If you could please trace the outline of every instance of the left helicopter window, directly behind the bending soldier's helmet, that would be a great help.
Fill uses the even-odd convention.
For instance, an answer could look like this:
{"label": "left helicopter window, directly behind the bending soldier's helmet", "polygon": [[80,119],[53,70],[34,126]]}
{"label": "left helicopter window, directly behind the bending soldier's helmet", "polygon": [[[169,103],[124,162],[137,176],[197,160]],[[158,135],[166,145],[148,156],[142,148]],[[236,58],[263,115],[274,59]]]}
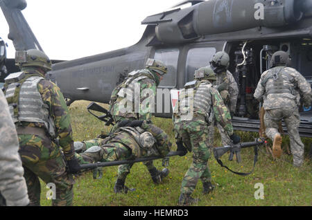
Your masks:
{"label": "left helicopter window, directly behind the bending soldier's helmet", "polygon": [[168,67],[167,74],[159,83],[159,86],[174,88],[177,82],[177,59],[179,58],[179,49],[166,48],[155,51],[154,59],[159,59]]}

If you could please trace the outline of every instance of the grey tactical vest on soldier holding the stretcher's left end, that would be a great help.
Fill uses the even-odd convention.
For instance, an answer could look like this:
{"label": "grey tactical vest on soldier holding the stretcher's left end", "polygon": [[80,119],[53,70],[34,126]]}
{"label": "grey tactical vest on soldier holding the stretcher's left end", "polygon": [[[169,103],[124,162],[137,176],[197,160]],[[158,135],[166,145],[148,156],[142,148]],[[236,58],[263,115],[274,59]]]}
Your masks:
{"label": "grey tactical vest on soldier holding the stretcher's left end", "polygon": [[[55,138],[55,125],[49,116],[49,107],[44,104],[37,84],[44,77],[12,73],[6,78],[6,99],[13,122],[43,123],[46,131]],[[15,75],[14,75],[15,74]],[[19,77],[15,77],[15,76]]]}

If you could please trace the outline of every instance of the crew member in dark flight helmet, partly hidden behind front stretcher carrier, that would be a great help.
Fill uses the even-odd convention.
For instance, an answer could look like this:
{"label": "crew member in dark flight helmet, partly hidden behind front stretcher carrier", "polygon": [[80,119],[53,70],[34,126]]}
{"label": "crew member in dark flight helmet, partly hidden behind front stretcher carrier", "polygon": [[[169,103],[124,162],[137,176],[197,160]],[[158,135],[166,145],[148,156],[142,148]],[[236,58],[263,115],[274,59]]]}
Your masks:
{"label": "crew member in dark flight helmet, partly hidden behind front stretcher carrier", "polygon": [[[232,118],[236,111],[239,87],[237,86],[232,73],[227,70],[229,67],[229,55],[223,51],[219,51],[211,58],[210,67],[214,73],[216,73],[216,81],[214,81],[213,85],[220,93]],[[227,136],[223,127],[218,122],[216,123],[216,126],[220,132],[222,145],[230,145],[231,140],[229,139],[229,136]],[[210,145],[212,146],[214,143],[214,123],[211,123],[209,126],[209,136],[211,137]]]}

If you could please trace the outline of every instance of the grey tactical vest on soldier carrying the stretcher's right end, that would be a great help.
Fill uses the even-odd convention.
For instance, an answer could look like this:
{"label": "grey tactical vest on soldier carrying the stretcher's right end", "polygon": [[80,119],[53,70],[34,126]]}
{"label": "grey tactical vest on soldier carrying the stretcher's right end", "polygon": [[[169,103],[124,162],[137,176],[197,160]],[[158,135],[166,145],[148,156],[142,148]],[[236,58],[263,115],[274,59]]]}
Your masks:
{"label": "grey tactical vest on soldier carrying the stretcher's right end", "polygon": [[[205,118],[209,122],[211,114],[211,83],[207,80],[193,81],[184,85],[180,92],[177,117],[180,120]],[[189,90],[193,89],[193,90]],[[193,107],[193,114],[190,114]],[[186,113],[186,114],[185,114]]]}

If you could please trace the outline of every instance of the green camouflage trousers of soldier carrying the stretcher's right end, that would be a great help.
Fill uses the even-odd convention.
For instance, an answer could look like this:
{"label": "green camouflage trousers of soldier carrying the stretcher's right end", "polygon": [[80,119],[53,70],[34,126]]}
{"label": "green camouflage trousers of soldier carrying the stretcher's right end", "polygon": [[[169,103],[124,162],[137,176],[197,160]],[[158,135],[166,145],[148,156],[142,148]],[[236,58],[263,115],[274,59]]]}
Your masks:
{"label": "green camouflage trousers of soldier carrying the stretcher's right end", "polygon": [[211,174],[207,165],[210,158],[207,124],[189,121],[175,124],[177,140],[182,140],[187,149],[193,152],[193,162],[182,180],[181,193],[191,194],[198,179],[202,183],[209,182]]}

